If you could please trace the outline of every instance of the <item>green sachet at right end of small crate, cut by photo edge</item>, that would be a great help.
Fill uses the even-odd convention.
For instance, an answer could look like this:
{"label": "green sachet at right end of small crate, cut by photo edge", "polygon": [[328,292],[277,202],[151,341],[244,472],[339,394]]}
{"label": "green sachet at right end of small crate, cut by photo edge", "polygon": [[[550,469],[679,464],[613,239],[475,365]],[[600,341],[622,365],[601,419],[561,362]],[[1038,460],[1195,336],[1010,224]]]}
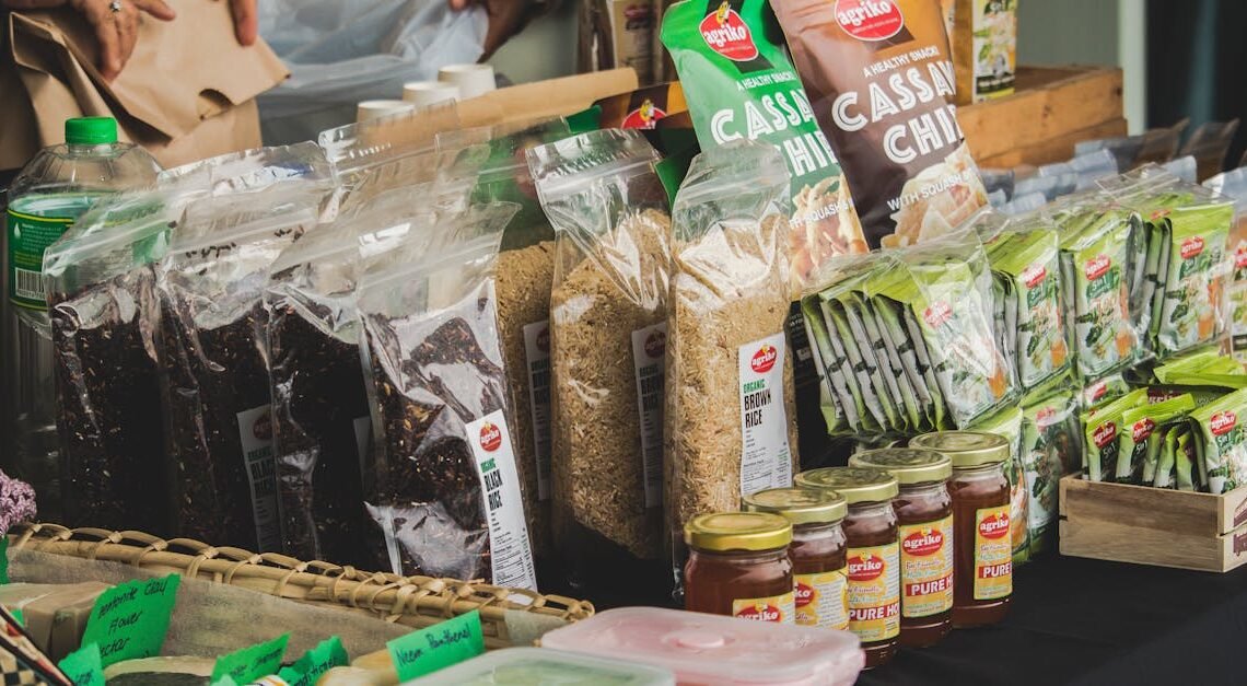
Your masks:
{"label": "green sachet at right end of small crate, cut by photo edge", "polygon": [[1236,390],[1191,413],[1198,428],[1200,471],[1207,474],[1208,493],[1233,490],[1247,481],[1247,389]]}

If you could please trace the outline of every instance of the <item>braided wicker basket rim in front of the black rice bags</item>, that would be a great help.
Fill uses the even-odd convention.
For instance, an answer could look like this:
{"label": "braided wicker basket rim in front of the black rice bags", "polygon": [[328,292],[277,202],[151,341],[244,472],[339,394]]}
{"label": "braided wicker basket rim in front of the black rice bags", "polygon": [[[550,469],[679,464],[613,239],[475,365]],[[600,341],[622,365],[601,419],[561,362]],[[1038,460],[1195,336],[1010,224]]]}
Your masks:
{"label": "braided wicker basket rim in front of the black rice bags", "polygon": [[535,620],[555,621],[577,621],[594,614],[594,606],[587,601],[525,589],[365,572],[329,563],[304,563],[273,553],[216,548],[190,539],[163,540],[140,531],[22,524],[14,526],[9,539],[11,550],[122,563],[156,574],[177,572],[298,602],[367,612],[413,627],[430,626],[480,610],[485,644],[490,649],[514,645],[506,624],[508,612],[525,612],[534,615]]}

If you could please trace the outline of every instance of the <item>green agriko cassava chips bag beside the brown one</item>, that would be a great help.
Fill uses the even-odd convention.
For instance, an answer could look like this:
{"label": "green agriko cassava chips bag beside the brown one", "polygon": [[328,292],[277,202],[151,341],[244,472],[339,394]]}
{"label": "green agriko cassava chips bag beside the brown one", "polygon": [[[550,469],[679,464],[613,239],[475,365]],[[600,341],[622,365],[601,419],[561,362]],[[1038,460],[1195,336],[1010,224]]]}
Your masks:
{"label": "green agriko cassava chips bag beside the brown one", "polygon": [[831,257],[867,252],[848,182],[767,0],[676,2],[663,15],[661,37],[702,150],[744,137],[783,151],[792,172],[794,287]]}

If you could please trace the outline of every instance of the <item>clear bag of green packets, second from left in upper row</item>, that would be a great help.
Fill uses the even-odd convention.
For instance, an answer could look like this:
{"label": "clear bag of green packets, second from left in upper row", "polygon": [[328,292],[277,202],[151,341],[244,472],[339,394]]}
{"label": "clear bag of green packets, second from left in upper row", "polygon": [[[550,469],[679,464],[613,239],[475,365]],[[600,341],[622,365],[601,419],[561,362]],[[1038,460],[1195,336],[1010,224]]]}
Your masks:
{"label": "clear bag of green packets, second from left in upper row", "polygon": [[[1001,352],[1023,389],[1064,373],[1070,364],[1061,319],[1059,241],[1055,231],[1004,233],[988,247],[1004,302]],[[1003,307],[1001,307],[1003,306]]]}

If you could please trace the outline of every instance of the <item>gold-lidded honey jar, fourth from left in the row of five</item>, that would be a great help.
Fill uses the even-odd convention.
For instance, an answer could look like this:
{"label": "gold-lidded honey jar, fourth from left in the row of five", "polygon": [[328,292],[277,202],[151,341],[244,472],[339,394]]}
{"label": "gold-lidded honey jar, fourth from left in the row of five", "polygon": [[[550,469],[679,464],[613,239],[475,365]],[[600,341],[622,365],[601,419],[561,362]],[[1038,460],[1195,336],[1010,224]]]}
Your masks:
{"label": "gold-lidded honey jar, fourth from left in the row of five", "polygon": [[900,541],[900,645],[925,647],[953,629],[953,460],[923,448],[884,448],[849,458],[897,478],[892,501]]}

